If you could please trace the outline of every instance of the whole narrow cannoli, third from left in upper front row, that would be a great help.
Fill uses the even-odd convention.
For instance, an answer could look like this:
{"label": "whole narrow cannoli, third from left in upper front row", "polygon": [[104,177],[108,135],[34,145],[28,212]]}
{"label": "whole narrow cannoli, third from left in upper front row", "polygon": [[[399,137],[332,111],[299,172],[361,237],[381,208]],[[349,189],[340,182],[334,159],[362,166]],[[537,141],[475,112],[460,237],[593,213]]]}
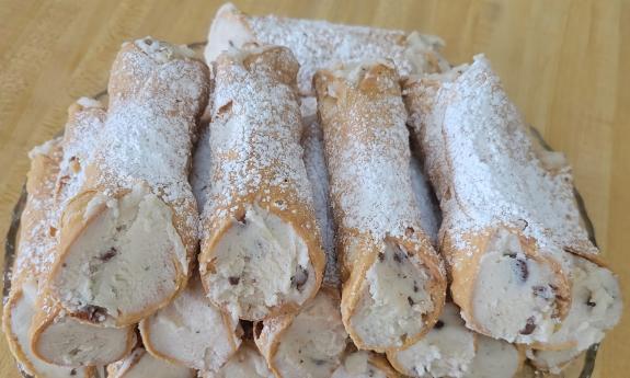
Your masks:
{"label": "whole narrow cannoli, third from left in upper front row", "polygon": [[389,62],[314,78],[343,280],[342,318],[359,348],[413,344],[437,321],[445,273],[420,224],[406,113]]}

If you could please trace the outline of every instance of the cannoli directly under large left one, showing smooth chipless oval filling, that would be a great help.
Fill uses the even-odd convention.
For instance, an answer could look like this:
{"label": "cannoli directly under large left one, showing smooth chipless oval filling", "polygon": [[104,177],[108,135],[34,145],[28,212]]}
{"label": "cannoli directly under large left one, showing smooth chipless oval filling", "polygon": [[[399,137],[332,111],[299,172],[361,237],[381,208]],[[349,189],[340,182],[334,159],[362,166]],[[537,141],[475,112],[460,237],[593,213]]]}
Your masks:
{"label": "cannoli directly under large left one, showing smooth chipless oval filling", "polygon": [[[94,100],[82,98],[68,111],[68,123],[62,139],[62,158],[54,192],[50,226],[53,233],[59,229],[59,208],[76,195],[82,185],[82,164],[98,144],[103,127],[105,110]],[[58,252],[55,239],[47,265]],[[94,324],[94,313],[68,313],[48,288],[48,275],[39,277],[39,293],[35,302],[30,339],[35,355],[48,363],[64,366],[103,366],[123,358],[136,344],[134,327],[114,328],[106,323]]]}

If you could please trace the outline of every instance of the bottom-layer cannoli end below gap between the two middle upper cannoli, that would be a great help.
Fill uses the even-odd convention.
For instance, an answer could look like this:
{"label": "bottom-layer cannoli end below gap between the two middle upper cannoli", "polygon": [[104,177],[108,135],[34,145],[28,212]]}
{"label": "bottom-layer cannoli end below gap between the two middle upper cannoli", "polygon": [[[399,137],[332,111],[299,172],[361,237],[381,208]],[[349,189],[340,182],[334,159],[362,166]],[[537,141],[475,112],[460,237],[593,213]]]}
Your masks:
{"label": "bottom-layer cannoli end below gap between the two middle upper cannoli", "polygon": [[254,325],[256,345],[276,377],[331,376],[347,344],[339,306],[337,290],[322,287],[297,316]]}

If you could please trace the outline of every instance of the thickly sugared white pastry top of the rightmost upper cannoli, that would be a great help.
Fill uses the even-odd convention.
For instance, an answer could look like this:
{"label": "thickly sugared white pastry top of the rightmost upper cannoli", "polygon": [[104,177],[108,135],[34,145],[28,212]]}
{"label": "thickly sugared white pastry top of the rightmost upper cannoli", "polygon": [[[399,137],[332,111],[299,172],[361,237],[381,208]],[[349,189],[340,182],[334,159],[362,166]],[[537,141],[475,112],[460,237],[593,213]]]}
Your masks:
{"label": "thickly sugared white pastry top of the rightmost upper cannoli", "polygon": [[[442,198],[443,229],[458,249],[468,245],[457,236],[503,224],[523,229],[547,252],[597,253],[582,225],[571,168],[532,140],[486,58],[410,80],[405,91],[433,105],[412,114],[412,124],[420,126],[425,167]],[[439,173],[445,169],[448,177]]]}

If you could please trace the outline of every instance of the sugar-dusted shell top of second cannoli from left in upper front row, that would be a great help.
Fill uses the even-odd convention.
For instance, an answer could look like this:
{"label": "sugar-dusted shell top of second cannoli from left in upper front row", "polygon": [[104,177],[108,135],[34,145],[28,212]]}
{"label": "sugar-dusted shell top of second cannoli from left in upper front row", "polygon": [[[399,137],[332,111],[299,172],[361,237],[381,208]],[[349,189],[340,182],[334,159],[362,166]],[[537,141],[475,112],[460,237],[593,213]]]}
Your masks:
{"label": "sugar-dusted shell top of second cannoli from left in upper front row", "polygon": [[[288,49],[262,47],[224,54],[216,65],[210,124],[211,187],[204,218],[213,229],[232,217],[250,195],[278,210],[303,204],[313,214],[312,192],[299,145],[302,124],[295,91],[297,62]],[[220,162],[220,163],[219,163]],[[270,204],[272,205],[272,204]],[[313,219],[314,221],[314,219]],[[303,225],[317,227],[317,225]]]}

